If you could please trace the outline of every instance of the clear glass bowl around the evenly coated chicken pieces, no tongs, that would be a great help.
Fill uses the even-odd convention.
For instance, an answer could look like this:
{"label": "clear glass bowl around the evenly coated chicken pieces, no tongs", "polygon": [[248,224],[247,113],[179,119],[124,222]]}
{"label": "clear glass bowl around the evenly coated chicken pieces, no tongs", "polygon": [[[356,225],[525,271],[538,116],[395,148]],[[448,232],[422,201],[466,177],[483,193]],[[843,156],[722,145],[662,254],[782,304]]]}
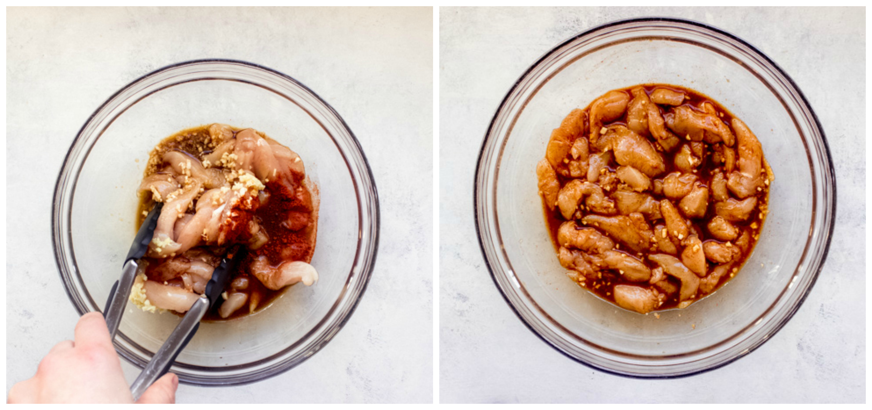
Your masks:
{"label": "clear glass bowl around the evenly coated chicken pieces, no tongs", "polygon": [[[613,89],[684,85],[744,120],[775,181],[753,254],[729,283],[684,310],[640,315],[574,284],[548,236],[535,175],[551,130]],[[475,174],[475,219],[494,284],[530,330],[605,372],[664,378],[724,366],[787,323],[827,256],[835,172],[802,92],[751,44],[675,18],[604,24],[531,65],[494,114]]]}

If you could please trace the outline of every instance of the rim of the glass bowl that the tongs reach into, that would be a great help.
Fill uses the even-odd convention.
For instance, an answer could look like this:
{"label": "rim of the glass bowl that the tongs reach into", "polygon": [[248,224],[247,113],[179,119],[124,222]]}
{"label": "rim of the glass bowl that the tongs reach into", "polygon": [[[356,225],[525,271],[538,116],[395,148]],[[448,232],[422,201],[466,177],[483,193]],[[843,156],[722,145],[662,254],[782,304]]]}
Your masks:
{"label": "rim of the glass bowl that the tongs reach into", "polygon": [[[198,370],[198,371],[205,370],[208,372],[208,370],[210,370],[210,369],[236,369],[236,368],[244,368],[245,366],[269,363],[270,361],[274,362],[271,365],[263,367],[263,368],[255,368],[253,372],[249,371],[249,372],[243,372],[241,374],[206,376],[206,377],[201,376],[201,375],[196,375],[196,374],[188,375],[188,376],[183,376],[180,374],[180,377],[179,377],[180,382],[182,384],[191,385],[191,386],[242,386],[242,385],[255,383],[255,382],[263,380],[263,379],[269,379],[271,377],[275,377],[279,374],[282,374],[283,372],[287,372],[291,368],[296,367],[296,366],[300,365],[301,363],[303,363],[306,359],[309,359],[316,352],[321,350],[324,347],[324,345],[327,345],[327,343],[329,343],[330,340],[337,335],[338,331],[342,330],[344,325],[351,318],[351,315],[357,309],[358,304],[360,303],[360,299],[364,296],[365,290],[367,289],[367,287],[369,285],[372,271],[375,268],[376,258],[378,256],[378,244],[379,244],[379,239],[380,239],[381,210],[380,210],[380,202],[378,201],[378,189],[376,187],[376,182],[375,182],[375,178],[373,177],[373,174],[372,174],[370,163],[366,159],[366,155],[364,154],[363,147],[360,146],[360,142],[359,142],[357,136],[351,131],[351,127],[348,126],[348,124],[345,122],[344,118],[341,115],[339,115],[339,113],[337,113],[337,111],[333,108],[333,106],[330,106],[330,104],[327,103],[327,101],[325,101],[323,98],[321,98],[321,96],[318,95],[316,92],[312,91],[308,86],[303,85],[302,82],[290,77],[289,75],[287,75],[283,72],[276,71],[276,70],[271,69],[269,67],[266,67],[264,65],[258,65],[255,63],[250,63],[248,61],[243,61],[243,60],[238,60],[238,59],[229,59],[229,58],[201,58],[201,59],[181,61],[181,62],[174,63],[171,65],[165,65],[165,66],[160,67],[156,70],[148,72],[148,73],[140,76],[137,79],[133,79],[133,81],[127,83],[126,85],[123,85],[122,87],[119,88],[118,91],[113,92],[109,98],[107,98],[102,104],[100,104],[99,107],[97,107],[97,109],[95,109],[91,113],[91,115],[88,116],[87,120],[85,120],[85,123],[83,124],[83,126],[81,126],[79,128],[78,133],[76,133],[75,138],[70,143],[70,147],[67,149],[67,152],[66,152],[65,157],[64,157],[64,161],[62,162],[61,167],[60,167],[60,171],[58,172],[58,178],[55,182],[54,194],[52,195],[52,201],[51,201],[51,241],[52,241],[52,245],[53,245],[52,250],[53,250],[53,254],[54,254],[55,263],[58,267],[58,274],[61,277],[61,282],[64,285],[65,293],[67,294],[67,297],[70,299],[70,302],[72,303],[73,308],[78,312],[79,316],[90,312],[87,309],[83,310],[81,308],[81,306],[79,306],[79,304],[77,303],[77,300],[79,297],[78,297],[78,295],[73,294],[74,293],[72,290],[73,286],[71,285],[72,278],[65,276],[65,273],[64,273],[65,266],[63,266],[63,262],[61,260],[62,259],[61,254],[69,253],[70,257],[72,258],[73,265],[76,265],[75,255],[73,253],[73,249],[71,248],[71,249],[66,250],[65,249],[65,246],[66,246],[65,239],[62,238],[62,236],[70,236],[71,235],[70,230],[62,231],[62,227],[64,225],[63,219],[66,217],[67,223],[69,223],[69,215],[68,214],[70,214],[70,212],[72,212],[72,195],[74,195],[74,193],[75,193],[74,187],[75,187],[75,184],[78,182],[78,174],[81,172],[81,169],[80,169],[81,165],[78,165],[78,169],[76,169],[77,165],[75,163],[73,163],[73,160],[74,160],[73,156],[74,156],[75,148],[77,148],[78,145],[80,145],[80,144],[84,144],[85,136],[83,135],[83,133],[85,133],[85,130],[89,126],[92,126],[92,122],[95,120],[95,118],[100,113],[103,113],[103,111],[107,107],[110,107],[113,105],[113,103],[116,103],[116,99],[118,99],[121,94],[131,90],[136,85],[140,85],[140,83],[146,81],[147,79],[150,79],[150,78],[153,78],[154,76],[160,75],[161,73],[171,72],[173,70],[180,69],[182,67],[196,66],[196,65],[242,66],[242,67],[245,67],[246,69],[259,70],[261,72],[264,72],[267,75],[272,75],[272,76],[276,77],[277,79],[286,81],[287,83],[289,83],[292,86],[298,87],[302,92],[305,92],[308,95],[310,95],[317,104],[321,105],[322,108],[324,108],[326,110],[327,114],[331,115],[333,117],[333,120],[337,120],[337,126],[340,127],[342,130],[344,130],[345,133],[348,134],[349,138],[347,140],[344,140],[344,142],[346,144],[348,144],[349,149],[343,149],[341,147],[337,147],[337,149],[339,150],[340,153],[342,153],[342,155],[344,157],[344,162],[346,163],[346,165],[349,168],[355,167],[360,171],[359,177],[356,177],[353,173],[351,174],[352,181],[358,181],[357,183],[355,183],[355,186],[354,186],[354,189],[356,191],[356,195],[355,195],[356,198],[355,199],[358,202],[358,206],[357,206],[357,208],[358,208],[357,209],[358,223],[360,223],[360,226],[358,226],[357,249],[355,250],[355,255],[354,255],[354,258],[353,258],[353,261],[351,264],[351,271],[347,274],[347,277],[345,279],[343,291],[340,293],[337,300],[332,302],[332,307],[330,308],[329,311],[327,311],[324,318],[320,319],[319,323],[323,322],[325,319],[330,318],[333,315],[337,316],[337,320],[333,324],[325,324],[324,326],[316,325],[315,328],[311,329],[310,331],[307,331],[305,334],[303,334],[303,337],[301,337],[296,342],[294,342],[288,346],[285,346],[283,349],[269,355],[266,358],[256,359],[255,361],[250,362],[250,363],[246,363],[246,364],[242,364],[242,365],[218,366],[218,367],[196,366],[196,365],[177,364],[177,363],[173,364],[173,366],[180,366],[181,368],[194,369],[194,370]],[[235,73],[235,74],[238,74],[238,73]],[[246,73],[246,74],[250,75],[250,73]],[[296,100],[288,98],[283,93],[277,92],[276,90],[271,89],[269,87],[265,87],[263,85],[256,84],[255,82],[252,82],[252,81],[241,80],[241,79],[221,79],[221,78],[206,76],[206,77],[202,77],[202,78],[194,78],[194,79],[187,79],[187,80],[180,81],[180,82],[173,82],[169,85],[160,86],[160,88],[158,88],[158,89],[155,89],[155,90],[152,90],[150,92],[146,92],[146,93],[140,95],[139,98],[133,100],[132,103],[130,103],[123,110],[121,110],[119,113],[117,113],[112,118],[112,120],[109,121],[109,123],[106,126],[104,126],[103,131],[105,131],[106,128],[108,128],[108,126],[111,126],[112,122],[114,122],[120,115],[125,113],[127,109],[136,105],[142,99],[146,99],[147,97],[153,95],[156,92],[166,90],[166,89],[171,88],[175,85],[182,85],[182,84],[187,84],[189,82],[200,81],[200,80],[230,80],[230,81],[242,83],[245,85],[256,86],[256,87],[264,89],[267,92],[276,93],[276,95],[278,95],[279,97],[281,97],[283,99],[287,99],[290,103],[292,103],[296,106],[299,106],[299,104],[297,103]],[[142,91],[142,90],[140,90],[140,91]],[[123,99],[123,100],[117,102],[117,104],[115,104],[115,107],[123,105],[125,101],[126,101],[126,99]],[[307,109],[306,107],[303,107],[303,106],[299,106],[299,107],[301,109],[303,109],[304,112],[308,113],[310,115],[310,117],[312,117],[312,120],[315,120],[322,127],[324,127],[323,120],[319,120],[319,119],[315,118],[315,116],[311,113],[310,109]],[[336,144],[335,137],[330,136],[330,138],[334,139],[334,144]],[[99,138],[97,140],[99,140]],[[85,147],[87,153],[84,155],[84,160],[86,160],[88,154],[90,154],[90,150],[91,150],[93,144],[96,143],[97,140],[94,140],[90,146]],[[355,158],[349,157],[349,154],[351,154],[352,156],[353,155],[359,156],[359,161],[356,160]],[[79,161],[82,161],[81,164],[84,164],[83,160],[79,160]],[[71,170],[75,171],[75,174],[67,175],[70,173]],[[64,202],[63,196],[65,194],[65,189],[64,189],[65,188],[65,175],[68,176],[68,178],[66,178],[66,179],[73,181],[72,182],[73,188],[70,189],[70,194],[69,194],[70,199],[68,200],[69,203],[67,204],[69,209],[59,208],[59,207],[61,207],[62,202]],[[366,221],[369,221],[369,223],[365,223]],[[364,230],[371,231],[371,234],[369,237],[363,235],[362,232]],[[72,237],[70,238],[69,243],[72,245]],[[370,248],[370,249],[361,249],[361,246],[365,246],[366,248]],[[357,274],[355,274],[355,272],[354,272],[355,269],[359,269],[359,272]],[[72,274],[80,277],[80,275],[78,274],[78,268],[76,270],[74,270],[72,272]],[[349,281],[352,278],[354,278],[356,280],[356,282],[358,282],[357,287],[352,287],[349,285]],[[83,285],[84,285],[84,282],[83,282]],[[346,293],[350,296],[346,296]],[[90,297],[90,294],[88,295],[88,297]],[[345,297],[350,297],[351,300],[348,302],[348,305],[346,307],[343,307],[342,301]],[[98,304],[98,306],[102,306],[102,304]],[[334,312],[334,311],[336,311],[336,312]],[[312,338],[313,336],[315,338]],[[143,366],[145,366],[145,363],[147,363],[147,360],[145,363],[143,363],[140,358],[136,357],[136,356],[138,356],[137,354],[135,354],[133,352],[127,352],[128,349],[126,348],[126,346],[120,345],[119,338],[125,339],[128,343],[132,343],[135,346],[138,346],[138,347],[141,347],[141,346],[139,346],[138,344],[136,344],[135,342],[133,342],[132,340],[127,338],[126,335],[124,335],[120,331],[118,332],[116,338],[114,338],[112,340],[113,347],[115,347],[116,351],[119,352],[119,356],[126,359],[126,361],[128,363],[132,364],[133,366],[140,367],[140,369],[143,368]],[[280,359],[280,358],[282,358],[282,356],[284,354],[287,354],[288,352],[290,352],[291,349],[293,349],[296,345],[298,345],[300,342],[302,342],[303,340],[306,340],[306,339],[312,340],[312,343],[310,344],[310,346],[307,349],[300,351],[296,355],[291,356],[289,358]],[[144,348],[142,348],[140,350],[145,350],[146,352],[149,352],[147,349],[144,349]],[[150,352],[150,353],[152,355],[154,354],[154,352]],[[147,356],[147,354],[146,354],[146,356]]]}

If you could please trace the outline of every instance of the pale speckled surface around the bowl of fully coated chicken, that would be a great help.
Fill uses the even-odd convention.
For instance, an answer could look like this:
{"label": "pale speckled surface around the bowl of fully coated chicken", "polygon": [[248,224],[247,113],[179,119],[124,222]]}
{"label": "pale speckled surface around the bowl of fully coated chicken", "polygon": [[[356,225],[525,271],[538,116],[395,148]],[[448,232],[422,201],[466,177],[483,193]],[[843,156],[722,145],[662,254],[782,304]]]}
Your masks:
{"label": "pale speckled surface around the bowl of fully coated chicken", "polygon": [[[866,279],[858,269],[866,257],[864,15],[862,9],[440,8],[440,400],[864,402]],[[686,379],[625,379],[546,345],[494,286],[473,221],[481,140],[515,79],[577,32],[642,16],[713,24],[773,58],[821,120],[838,184],[829,256],[794,318],[746,358]]]}

